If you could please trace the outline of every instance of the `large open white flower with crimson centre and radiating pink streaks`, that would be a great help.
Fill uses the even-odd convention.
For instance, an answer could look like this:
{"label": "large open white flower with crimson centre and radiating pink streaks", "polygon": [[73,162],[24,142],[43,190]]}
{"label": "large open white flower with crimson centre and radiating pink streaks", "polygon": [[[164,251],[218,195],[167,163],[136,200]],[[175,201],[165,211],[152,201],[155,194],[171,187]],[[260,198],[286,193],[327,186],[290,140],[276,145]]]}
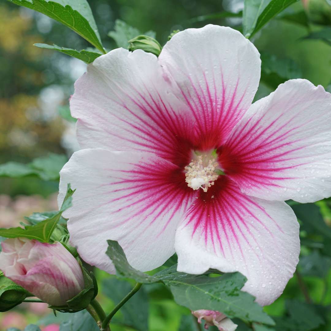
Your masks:
{"label": "large open white flower with crimson centre and radiating pink streaks", "polygon": [[159,58],[119,48],[88,65],[59,195],[77,189],[64,215],[84,260],[114,273],[112,239],[142,271],[176,252],[178,271],[240,271],[262,305],[282,293],[300,250],[284,200],[331,195],[331,94],[294,79],[251,105],[260,64],[240,32],[207,25]]}

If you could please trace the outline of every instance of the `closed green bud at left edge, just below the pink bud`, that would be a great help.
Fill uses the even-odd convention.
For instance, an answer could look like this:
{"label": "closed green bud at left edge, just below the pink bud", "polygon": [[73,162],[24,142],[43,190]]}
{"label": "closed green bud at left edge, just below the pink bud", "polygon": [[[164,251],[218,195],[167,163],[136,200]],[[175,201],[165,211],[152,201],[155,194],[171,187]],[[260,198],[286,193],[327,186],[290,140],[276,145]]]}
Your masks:
{"label": "closed green bud at left edge, just below the pink bud", "polygon": [[26,297],[32,296],[23,287],[15,284],[0,271],[0,312],[21,304]]}

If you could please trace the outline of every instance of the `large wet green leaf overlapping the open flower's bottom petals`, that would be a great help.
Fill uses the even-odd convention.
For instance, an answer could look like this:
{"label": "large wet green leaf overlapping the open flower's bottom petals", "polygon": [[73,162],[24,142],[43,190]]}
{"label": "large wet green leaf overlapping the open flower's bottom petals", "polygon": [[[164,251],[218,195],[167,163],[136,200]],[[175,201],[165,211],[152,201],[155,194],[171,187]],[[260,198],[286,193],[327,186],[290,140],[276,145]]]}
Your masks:
{"label": "large wet green leaf overlapping the open flower's bottom petals", "polygon": [[[209,309],[224,312],[229,317],[239,317],[252,322],[274,324],[273,320],[254,302],[254,297],[240,291],[246,277],[239,272],[224,274],[220,277],[189,275],[176,271],[177,266],[147,275],[135,270],[128,263],[123,249],[117,241],[107,240],[106,254],[116,267],[120,277],[132,278],[139,283],[163,282],[174,296],[177,304],[191,310]],[[210,270],[208,273],[218,272]]]}

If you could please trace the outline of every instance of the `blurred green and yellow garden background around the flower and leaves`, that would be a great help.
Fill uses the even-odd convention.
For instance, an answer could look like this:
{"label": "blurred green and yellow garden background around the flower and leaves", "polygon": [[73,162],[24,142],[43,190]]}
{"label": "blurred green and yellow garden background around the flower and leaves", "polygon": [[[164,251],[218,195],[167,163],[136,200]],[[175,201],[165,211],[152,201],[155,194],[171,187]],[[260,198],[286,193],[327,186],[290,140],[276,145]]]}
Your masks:
{"label": "blurred green and yellow garden background around the flower and leaves", "polygon": [[[176,29],[208,23],[240,29],[241,18],[221,18],[218,13],[224,10],[238,13],[243,9],[243,1],[238,0],[90,0],[89,3],[109,50],[117,47],[108,36],[117,19],[142,32],[154,30],[159,42],[164,44]],[[324,39],[306,38],[325,27],[330,29],[330,34]],[[331,91],[330,0],[295,3],[260,30],[252,41],[262,56],[262,80],[255,100],[268,95],[289,78],[307,78]],[[75,123],[68,120],[67,114],[73,82],[85,71],[86,64],[62,53],[33,46],[38,42],[78,50],[89,46],[84,39],[52,19],[1,0],[0,165],[10,161],[29,163],[50,152],[69,158],[78,149]],[[24,215],[32,212],[57,209],[57,190],[57,180],[0,176],[0,227],[17,226]],[[324,222],[330,224],[330,202],[325,200],[317,205]],[[331,245],[329,248],[331,251]],[[265,307],[269,314],[282,316],[286,311],[286,299],[307,301],[307,295],[315,304],[331,305],[331,259],[330,254],[321,255],[320,249],[309,245],[303,247],[303,256],[306,260],[309,258],[303,262],[302,275],[291,279],[281,298]],[[106,278],[102,272],[97,272],[97,276],[101,283]],[[190,312],[177,306],[166,290],[151,286],[146,298],[151,303],[150,330],[190,330],[183,326],[182,320],[182,315]],[[101,294],[100,300],[106,307],[114,305],[107,293]],[[43,304],[22,304],[10,312],[0,313],[0,330],[24,329],[28,323],[37,322],[49,312]],[[45,331],[59,330],[61,318],[61,314],[58,319],[47,317],[39,325]],[[326,324],[316,330],[331,330],[329,319],[330,309],[324,315]],[[123,326],[118,330],[124,330]]]}

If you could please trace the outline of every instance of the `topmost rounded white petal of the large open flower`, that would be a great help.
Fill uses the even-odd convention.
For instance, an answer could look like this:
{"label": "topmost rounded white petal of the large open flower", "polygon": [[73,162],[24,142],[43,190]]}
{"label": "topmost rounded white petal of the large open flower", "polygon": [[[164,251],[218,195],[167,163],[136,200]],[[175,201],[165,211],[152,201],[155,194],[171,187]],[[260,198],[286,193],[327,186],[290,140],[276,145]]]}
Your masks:
{"label": "topmost rounded white petal of the large open flower", "polygon": [[255,46],[237,30],[210,24],[176,33],[159,61],[178,84],[201,138],[215,136],[224,142],[259,85],[261,61]]}

